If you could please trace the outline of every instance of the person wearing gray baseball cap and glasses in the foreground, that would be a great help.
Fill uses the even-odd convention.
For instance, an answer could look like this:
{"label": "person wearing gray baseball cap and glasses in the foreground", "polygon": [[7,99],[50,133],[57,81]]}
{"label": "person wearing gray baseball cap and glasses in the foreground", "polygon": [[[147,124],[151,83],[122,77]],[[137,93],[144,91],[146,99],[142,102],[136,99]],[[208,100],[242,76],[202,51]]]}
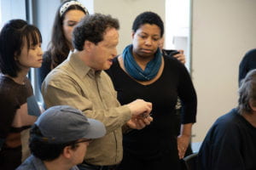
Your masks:
{"label": "person wearing gray baseball cap and glasses in the foreground", "polygon": [[87,118],[68,105],[50,107],[32,126],[28,157],[17,170],[77,170],[87,146],[104,136],[102,122]]}

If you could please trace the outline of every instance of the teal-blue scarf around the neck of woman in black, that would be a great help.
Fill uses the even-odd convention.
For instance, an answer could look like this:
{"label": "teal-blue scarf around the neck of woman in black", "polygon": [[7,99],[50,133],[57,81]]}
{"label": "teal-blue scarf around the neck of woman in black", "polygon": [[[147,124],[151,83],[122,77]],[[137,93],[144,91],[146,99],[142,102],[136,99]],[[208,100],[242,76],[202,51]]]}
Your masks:
{"label": "teal-blue scarf around the neck of woman in black", "polygon": [[132,45],[128,45],[123,52],[125,70],[128,72],[128,74],[139,81],[148,81],[153,79],[157,75],[162,61],[160,49],[157,49],[156,53],[154,54],[154,59],[148,62],[144,71],[139,65],[137,65],[131,51]]}

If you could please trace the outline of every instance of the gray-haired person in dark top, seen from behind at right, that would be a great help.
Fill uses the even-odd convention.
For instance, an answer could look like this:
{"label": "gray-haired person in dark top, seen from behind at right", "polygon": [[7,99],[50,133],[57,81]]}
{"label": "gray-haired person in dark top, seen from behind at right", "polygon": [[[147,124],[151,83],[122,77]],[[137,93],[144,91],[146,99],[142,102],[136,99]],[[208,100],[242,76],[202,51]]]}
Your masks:
{"label": "gray-haired person in dark top, seen from behind at right", "polygon": [[238,106],[212,125],[198,153],[198,169],[256,169],[256,70],[238,90]]}

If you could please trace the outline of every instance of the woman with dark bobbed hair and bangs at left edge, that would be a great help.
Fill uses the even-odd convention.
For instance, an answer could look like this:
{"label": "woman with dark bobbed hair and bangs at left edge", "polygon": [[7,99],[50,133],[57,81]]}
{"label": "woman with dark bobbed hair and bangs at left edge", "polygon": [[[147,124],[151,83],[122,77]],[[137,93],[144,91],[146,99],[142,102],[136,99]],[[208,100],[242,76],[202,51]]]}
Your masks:
{"label": "woman with dark bobbed hair and bangs at left edge", "polygon": [[0,33],[0,169],[29,156],[29,129],[41,111],[26,77],[43,62],[42,37],[25,20],[9,20]]}

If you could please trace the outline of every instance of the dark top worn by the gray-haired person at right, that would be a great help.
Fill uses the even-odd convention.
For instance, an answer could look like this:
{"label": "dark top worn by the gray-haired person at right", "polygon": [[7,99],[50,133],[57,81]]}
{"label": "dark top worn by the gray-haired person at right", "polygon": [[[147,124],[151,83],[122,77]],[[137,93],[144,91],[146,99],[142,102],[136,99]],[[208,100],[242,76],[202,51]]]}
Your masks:
{"label": "dark top worn by the gray-haired person at right", "polygon": [[212,125],[198,153],[198,170],[256,169],[256,127],[237,109]]}

